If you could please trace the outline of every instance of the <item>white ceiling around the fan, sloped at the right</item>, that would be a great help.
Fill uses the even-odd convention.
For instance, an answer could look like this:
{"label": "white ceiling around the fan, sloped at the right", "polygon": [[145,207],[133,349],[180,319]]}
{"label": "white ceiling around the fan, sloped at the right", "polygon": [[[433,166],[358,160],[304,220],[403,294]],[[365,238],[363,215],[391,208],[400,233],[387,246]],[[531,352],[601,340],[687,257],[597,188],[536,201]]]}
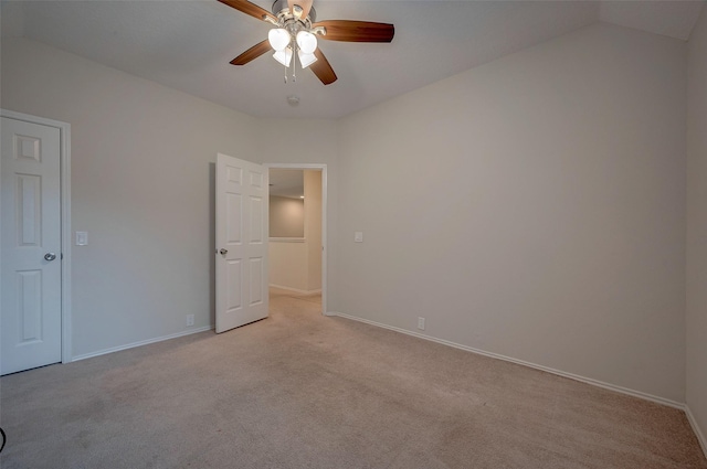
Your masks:
{"label": "white ceiling around the fan, sloped at the right", "polygon": [[[270,11],[270,0],[254,3]],[[283,83],[267,54],[229,62],[267,23],[215,0],[8,1],[2,34],[24,35],[255,117],[338,118],[598,21],[680,40],[705,1],[315,0],[318,20],[393,23],[390,44],[320,41],[339,79]],[[299,97],[291,107],[287,96]]]}

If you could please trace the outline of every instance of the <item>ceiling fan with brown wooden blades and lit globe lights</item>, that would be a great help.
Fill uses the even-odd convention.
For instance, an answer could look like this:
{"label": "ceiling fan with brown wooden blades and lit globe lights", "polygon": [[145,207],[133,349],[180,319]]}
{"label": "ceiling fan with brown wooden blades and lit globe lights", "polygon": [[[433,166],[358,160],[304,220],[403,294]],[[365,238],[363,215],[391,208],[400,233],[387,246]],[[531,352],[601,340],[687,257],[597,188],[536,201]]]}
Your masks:
{"label": "ceiling fan with brown wooden blades and lit globe lights", "polygon": [[[247,0],[219,0],[245,14],[273,24],[265,41],[262,41],[231,61],[233,65],[245,65],[264,53],[274,50],[273,57],[287,68],[296,54],[303,68],[309,67],[315,75],[329,85],[337,76],[331,65],[317,47],[317,38],[345,42],[391,42],[395,34],[392,24],[370,21],[325,20],[316,21],[313,0],[276,0],[272,13]],[[294,67],[293,67],[294,70]],[[293,78],[296,79],[295,72]]]}

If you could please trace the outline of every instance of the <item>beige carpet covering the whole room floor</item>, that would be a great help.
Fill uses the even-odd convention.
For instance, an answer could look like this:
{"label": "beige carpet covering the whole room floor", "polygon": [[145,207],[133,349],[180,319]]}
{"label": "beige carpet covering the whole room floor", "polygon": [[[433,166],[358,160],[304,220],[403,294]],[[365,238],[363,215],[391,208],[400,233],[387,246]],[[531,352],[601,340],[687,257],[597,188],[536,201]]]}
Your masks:
{"label": "beige carpet covering the whole room floor", "polygon": [[4,376],[0,466],[707,468],[679,411],[318,311]]}

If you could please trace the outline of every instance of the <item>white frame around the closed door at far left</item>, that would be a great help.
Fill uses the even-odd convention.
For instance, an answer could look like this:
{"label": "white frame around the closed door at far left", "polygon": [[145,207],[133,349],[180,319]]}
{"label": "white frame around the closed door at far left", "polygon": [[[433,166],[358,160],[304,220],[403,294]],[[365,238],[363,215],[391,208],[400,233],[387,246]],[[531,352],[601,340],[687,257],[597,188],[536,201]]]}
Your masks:
{"label": "white frame around the closed door at far left", "polygon": [[[29,114],[0,109],[0,116],[10,119],[39,124],[59,129],[60,135],[60,198],[61,198],[61,317],[62,317],[62,363],[73,361],[71,327],[71,125]],[[1,221],[0,221],[1,223]]]}

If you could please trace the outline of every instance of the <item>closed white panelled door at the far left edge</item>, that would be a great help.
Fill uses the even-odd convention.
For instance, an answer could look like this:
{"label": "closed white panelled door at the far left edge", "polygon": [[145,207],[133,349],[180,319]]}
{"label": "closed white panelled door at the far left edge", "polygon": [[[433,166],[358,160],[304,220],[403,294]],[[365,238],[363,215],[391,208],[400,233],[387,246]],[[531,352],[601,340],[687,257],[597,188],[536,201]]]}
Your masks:
{"label": "closed white panelled door at the far left edge", "polygon": [[2,117],[0,374],[62,360],[60,130]]}

